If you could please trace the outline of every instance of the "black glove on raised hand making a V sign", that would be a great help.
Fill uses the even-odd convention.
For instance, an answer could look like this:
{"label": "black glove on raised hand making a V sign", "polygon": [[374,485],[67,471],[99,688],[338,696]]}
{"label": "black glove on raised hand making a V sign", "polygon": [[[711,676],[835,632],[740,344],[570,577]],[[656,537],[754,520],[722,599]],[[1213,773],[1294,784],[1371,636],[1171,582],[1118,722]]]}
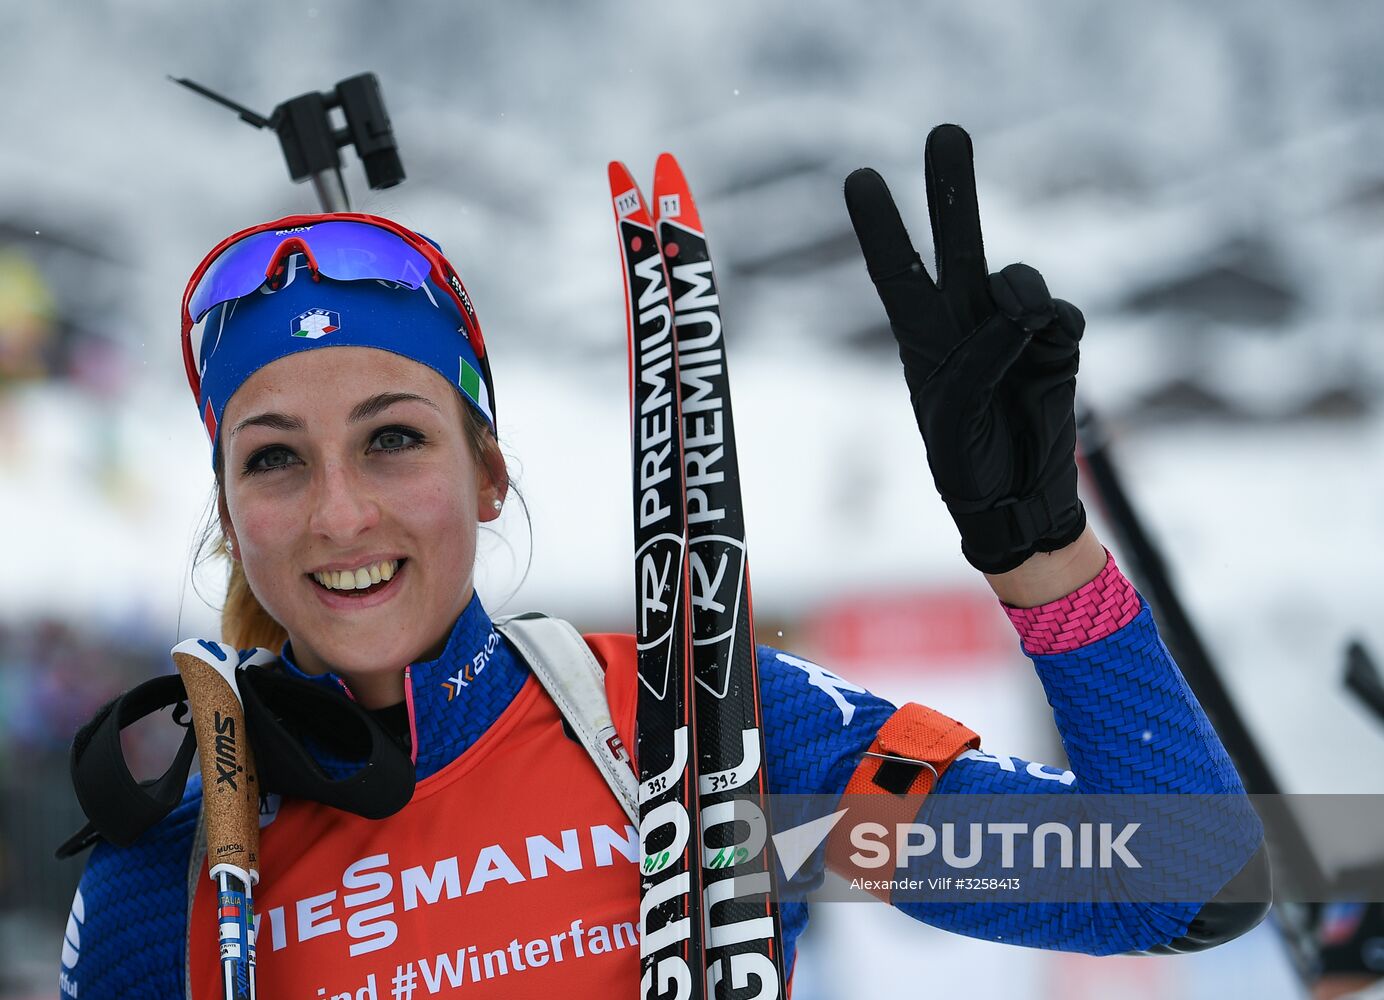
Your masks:
{"label": "black glove on raised hand making a V sign", "polygon": [[1085,320],[1027,264],[985,274],[970,136],[927,137],[927,209],[937,284],[884,178],[846,178],[846,207],[890,326],[933,481],[977,570],[1005,573],[1074,542],[1078,342]]}

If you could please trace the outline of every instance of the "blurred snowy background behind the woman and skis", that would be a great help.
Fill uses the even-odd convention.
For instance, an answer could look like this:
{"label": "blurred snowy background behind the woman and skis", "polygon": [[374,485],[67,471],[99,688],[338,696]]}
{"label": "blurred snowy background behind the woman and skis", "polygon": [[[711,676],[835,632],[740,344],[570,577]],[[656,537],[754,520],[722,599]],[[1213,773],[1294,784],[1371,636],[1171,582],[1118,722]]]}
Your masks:
{"label": "blurred snowy background behind the woman and skis", "polygon": [[[1280,781],[1380,793],[1384,730],[1340,672],[1351,636],[1384,653],[1381,29],[1363,1],[1277,0],[0,7],[0,996],[54,989],[72,729],[217,631],[183,282],[227,232],[316,210],[271,134],[165,75],[262,113],[381,77],[408,180],[370,192],[347,154],[354,207],[461,268],[527,498],[482,596],[587,628],[632,606],[605,165],[649,178],[677,152],[722,286],[760,638],[1059,759],[934,498],[840,198],[876,166],[926,257],[923,138],[966,126],[990,263],[1086,313],[1081,396]],[[889,638],[851,647],[821,624],[843,620]],[[799,1000],[1297,996],[1269,927],[1095,961],[837,906],[801,952]]]}

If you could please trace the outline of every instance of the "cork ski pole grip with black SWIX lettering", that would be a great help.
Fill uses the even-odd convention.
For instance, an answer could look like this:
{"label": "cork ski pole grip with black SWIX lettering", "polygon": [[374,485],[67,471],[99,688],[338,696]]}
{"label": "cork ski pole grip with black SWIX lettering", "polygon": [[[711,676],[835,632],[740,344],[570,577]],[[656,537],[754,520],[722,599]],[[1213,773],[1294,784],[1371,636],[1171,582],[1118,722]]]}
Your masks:
{"label": "cork ski pole grip with black SWIX lettering", "polygon": [[187,687],[202,762],[206,862],[213,877],[224,864],[255,882],[259,880],[259,781],[234,682],[237,653],[220,643],[187,649],[192,645],[176,646],[173,663]]}

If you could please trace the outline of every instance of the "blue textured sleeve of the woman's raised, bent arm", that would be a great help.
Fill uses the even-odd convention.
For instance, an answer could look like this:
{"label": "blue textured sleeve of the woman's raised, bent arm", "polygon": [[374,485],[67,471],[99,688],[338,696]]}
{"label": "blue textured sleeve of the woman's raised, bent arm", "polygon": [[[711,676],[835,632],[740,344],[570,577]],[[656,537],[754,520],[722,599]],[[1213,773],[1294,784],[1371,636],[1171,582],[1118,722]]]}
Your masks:
{"label": "blue textured sleeve of the woman's raised, bent arm", "polygon": [[[1071,770],[967,751],[943,773],[934,794],[1080,791],[1239,797],[1239,804],[1230,806],[1229,822],[1214,831],[1204,827],[1205,811],[1189,811],[1186,819],[1178,813],[1164,827],[1186,845],[1205,844],[1207,835],[1215,835],[1222,845],[1214,852],[1215,863],[1223,870],[1218,869],[1212,877],[1217,885],[1228,882],[1258,848],[1262,827],[1243,798],[1239,776],[1215,730],[1158,638],[1149,607],[1142,606],[1133,621],[1102,640],[1070,653],[1031,658]],[[771,791],[840,795],[861,752],[894,707],[786,653],[761,650],[760,668]],[[775,775],[774,769],[782,773]],[[919,822],[927,823],[933,802],[931,797],[925,802]],[[1223,811],[1219,817],[1226,817]],[[1190,856],[1194,848],[1187,851]],[[916,863],[911,874],[926,877],[926,866]],[[819,866],[815,877],[821,877]],[[1111,878],[1111,874],[1093,869],[1091,877]],[[1104,895],[1117,896],[1118,888]],[[1127,898],[1139,898],[1135,887],[1128,889]],[[1201,902],[901,902],[898,909],[969,936],[1116,954],[1182,936]],[[805,923],[805,913],[801,920]]]}

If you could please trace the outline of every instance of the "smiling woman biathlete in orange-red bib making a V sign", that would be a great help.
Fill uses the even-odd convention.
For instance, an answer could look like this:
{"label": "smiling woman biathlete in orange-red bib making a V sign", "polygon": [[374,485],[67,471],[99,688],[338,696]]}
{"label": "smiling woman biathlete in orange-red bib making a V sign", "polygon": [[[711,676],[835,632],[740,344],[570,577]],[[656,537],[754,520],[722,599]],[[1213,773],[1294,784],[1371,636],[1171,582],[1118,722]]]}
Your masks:
{"label": "smiling woman biathlete in orange-red bib making a V sign", "polygon": [[[1262,831],[1147,604],[1077,499],[1084,320],[1032,268],[987,277],[970,160],[960,129],[929,138],[936,282],[877,174],[853,174],[847,205],[963,555],[1014,624],[1071,770],[966,748],[934,761],[931,790],[1240,806],[1196,862],[1210,888],[1192,900],[1129,889],[1107,902],[894,905],[960,934],[1092,954],[1229,941],[1266,909],[1254,902],[1266,899]],[[486,346],[440,249],[356,214],[238,232],[190,282],[184,355],[230,559],[223,639],[273,650],[255,669],[317,698],[298,719],[267,712],[300,757],[288,781],[298,794],[271,797],[262,816],[262,994],[631,994],[634,826],[473,588],[477,530],[500,515],[509,477]],[[587,636],[558,654],[559,674],[587,650],[635,747],[632,638]],[[890,794],[868,751],[890,746],[882,733],[941,718],[765,646],[758,669],[774,794]],[[332,726],[313,725],[324,712],[368,718],[389,746],[338,746]],[[364,770],[403,775],[393,790],[347,787],[364,757]],[[396,758],[407,773],[390,770]],[[68,996],[219,996],[199,786],[194,776],[129,846],[95,846],[75,906],[80,947],[64,952]],[[1203,858],[1194,822],[1165,828],[1182,830],[1176,853]],[[819,853],[793,881],[821,878],[821,866]],[[783,903],[786,968],[805,923],[805,903]]]}

